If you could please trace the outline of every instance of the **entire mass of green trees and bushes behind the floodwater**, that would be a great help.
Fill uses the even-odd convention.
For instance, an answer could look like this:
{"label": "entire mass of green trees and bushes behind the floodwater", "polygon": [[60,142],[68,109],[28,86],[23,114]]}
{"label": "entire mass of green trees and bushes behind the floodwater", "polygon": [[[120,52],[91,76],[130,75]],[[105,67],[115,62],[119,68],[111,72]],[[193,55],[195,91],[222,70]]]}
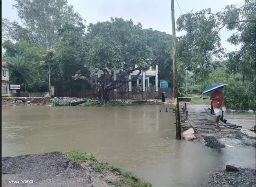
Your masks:
{"label": "entire mass of green trees and bushes behind the floodwater", "polygon": [[[34,0],[14,2],[23,24],[2,18],[2,58],[10,68],[11,83],[22,85],[22,91],[47,91],[48,68],[57,96],[99,89],[103,104],[111,90],[150,66],[158,65],[159,79],[172,86],[171,35],[116,17],[86,25],[67,0],[48,0],[44,6]],[[255,20],[255,0],[227,5],[218,13],[208,8],[178,18],[177,30],[185,33],[176,38],[180,97],[222,82],[228,84],[226,108],[255,111]],[[237,50],[222,47],[223,29],[234,32],[227,42]],[[103,72],[100,77],[98,70]],[[128,79],[134,71],[138,74]]]}

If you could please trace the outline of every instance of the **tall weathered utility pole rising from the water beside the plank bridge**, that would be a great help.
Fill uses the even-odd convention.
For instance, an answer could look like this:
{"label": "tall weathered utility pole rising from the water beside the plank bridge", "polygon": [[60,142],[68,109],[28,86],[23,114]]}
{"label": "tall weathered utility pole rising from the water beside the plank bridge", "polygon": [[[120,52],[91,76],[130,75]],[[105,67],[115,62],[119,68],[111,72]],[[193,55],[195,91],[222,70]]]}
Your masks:
{"label": "tall weathered utility pole rising from the water beside the plank bridge", "polygon": [[174,0],[171,0],[171,18],[172,18],[172,69],[174,80],[174,99],[175,99],[175,119],[176,119],[176,139],[182,139],[182,130],[180,126],[180,109],[178,101],[178,81],[177,81],[177,65],[176,65],[176,32],[174,18]]}

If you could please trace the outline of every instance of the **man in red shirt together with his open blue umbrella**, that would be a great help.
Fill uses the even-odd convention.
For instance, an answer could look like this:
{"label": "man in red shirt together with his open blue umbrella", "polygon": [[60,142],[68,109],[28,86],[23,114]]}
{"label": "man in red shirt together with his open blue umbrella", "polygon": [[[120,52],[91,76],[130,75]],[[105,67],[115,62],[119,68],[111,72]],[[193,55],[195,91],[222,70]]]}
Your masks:
{"label": "man in red shirt together with his open blue umbrella", "polygon": [[220,117],[222,116],[222,107],[224,104],[224,92],[222,88],[226,86],[223,83],[215,83],[211,86],[207,86],[202,94],[204,93],[211,93],[211,100],[212,100],[212,108],[215,113],[215,127],[219,128]]}

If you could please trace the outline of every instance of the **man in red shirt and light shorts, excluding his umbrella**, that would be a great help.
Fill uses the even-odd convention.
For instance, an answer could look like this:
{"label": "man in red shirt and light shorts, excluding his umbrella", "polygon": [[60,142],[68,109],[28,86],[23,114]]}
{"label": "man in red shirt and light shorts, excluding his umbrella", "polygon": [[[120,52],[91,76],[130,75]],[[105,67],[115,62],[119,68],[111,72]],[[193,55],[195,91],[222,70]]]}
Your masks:
{"label": "man in red shirt and light shorts, excluding his umbrella", "polygon": [[222,87],[211,93],[211,100],[212,108],[216,116],[215,127],[219,128],[220,117],[222,116],[222,106],[224,103],[224,92],[222,91]]}

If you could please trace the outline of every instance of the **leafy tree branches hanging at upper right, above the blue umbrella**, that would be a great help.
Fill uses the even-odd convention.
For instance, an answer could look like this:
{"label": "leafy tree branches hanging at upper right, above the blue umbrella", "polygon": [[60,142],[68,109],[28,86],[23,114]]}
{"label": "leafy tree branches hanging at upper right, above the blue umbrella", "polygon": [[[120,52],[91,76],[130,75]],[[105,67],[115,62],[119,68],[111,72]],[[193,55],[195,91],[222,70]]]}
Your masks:
{"label": "leafy tree branches hanging at upper right, above the blue umbrella", "polygon": [[235,31],[227,41],[241,45],[240,50],[225,54],[229,62],[227,68],[243,76],[248,72],[255,75],[255,21],[254,0],[245,0],[243,5],[227,5],[218,13],[212,13],[209,8],[183,14],[177,20],[178,31],[186,31],[180,40],[183,54],[179,58],[186,62],[188,70],[193,73],[204,73],[202,77],[209,74],[209,67],[218,66],[214,64],[216,61],[213,57],[225,57],[219,31],[226,28]]}

